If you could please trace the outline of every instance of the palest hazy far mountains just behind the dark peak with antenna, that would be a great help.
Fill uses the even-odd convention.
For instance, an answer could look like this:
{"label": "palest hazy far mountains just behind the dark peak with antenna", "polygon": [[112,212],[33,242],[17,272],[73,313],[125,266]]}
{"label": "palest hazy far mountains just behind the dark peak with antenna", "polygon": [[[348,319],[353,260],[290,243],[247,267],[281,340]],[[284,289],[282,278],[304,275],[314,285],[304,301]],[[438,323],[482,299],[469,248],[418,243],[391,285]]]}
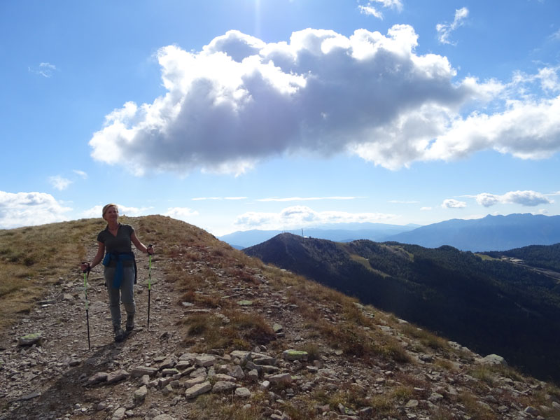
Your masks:
{"label": "palest hazy far mountains just behind the dark peak with antenna", "polygon": [[292,233],[293,235],[303,235],[320,239],[330,239],[331,241],[346,242],[355,239],[370,239],[372,241],[384,241],[388,237],[397,235],[401,232],[418,228],[419,225],[388,225],[385,223],[337,223],[321,225],[314,228],[304,228],[297,230],[246,230],[233,232],[228,235],[218,237],[227,242],[234,248],[243,249],[267,241],[281,233]]}

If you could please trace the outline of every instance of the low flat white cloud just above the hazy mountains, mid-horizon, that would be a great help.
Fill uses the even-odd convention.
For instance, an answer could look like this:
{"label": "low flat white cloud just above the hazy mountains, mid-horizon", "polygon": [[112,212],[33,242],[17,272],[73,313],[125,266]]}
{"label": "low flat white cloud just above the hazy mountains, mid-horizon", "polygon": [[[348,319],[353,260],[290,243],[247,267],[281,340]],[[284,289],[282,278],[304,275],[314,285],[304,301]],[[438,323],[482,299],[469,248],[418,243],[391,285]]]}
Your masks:
{"label": "low flat white cloud just above the hazy mountains, mid-horizon", "polygon": [[278,213],[248,211],[237,217],[235,225],[241,229],[297,229],[325,223],[365,223],[391,221],[394,214],[349,213],[346,211],[315,211],[306,206],[287,207]]}

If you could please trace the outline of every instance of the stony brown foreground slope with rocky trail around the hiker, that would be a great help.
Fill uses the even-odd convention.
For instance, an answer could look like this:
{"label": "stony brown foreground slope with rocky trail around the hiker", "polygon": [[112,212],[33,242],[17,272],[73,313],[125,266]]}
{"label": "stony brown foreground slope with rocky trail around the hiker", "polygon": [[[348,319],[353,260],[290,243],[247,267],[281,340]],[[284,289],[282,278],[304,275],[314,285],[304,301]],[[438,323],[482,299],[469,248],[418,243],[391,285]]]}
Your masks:
{"label": "stony brown foreground slope with rocky trail around the hiker", "polygon": [[[148,260],[137,255],[137,326],[122,343],[113,342],[102,267],[89,277],[91,349],[83,276],[69,269],[60,277],[0,341],[0,419],[560,419],[560,400],[545,382],[492,369],[472,375],[476,366],[503,363],[499,356],[482,358],[456,343],[443,354],[402,333],[405,321],[391,323],[391,316],[355,303],[374,319],[375,333],[397,340],[409,357],[366,362],[310,332],[293,299],[300,292],[275,286],[265,266],[247,281],[246,273],[211,258],[211,246],[179,251],[153,259],[149,330]],[[185,319],[230,320],[219,302],[182,301],[183,291],[167,281],[174,264],[185,276],[207,277],[197,293],[265,318],[272,340],[251,351],[193,351],[202,338],[186,342]],[[336,304],[299,298],[333,328],[343,321]],[[297,350],[311,339],[320,355]]]}

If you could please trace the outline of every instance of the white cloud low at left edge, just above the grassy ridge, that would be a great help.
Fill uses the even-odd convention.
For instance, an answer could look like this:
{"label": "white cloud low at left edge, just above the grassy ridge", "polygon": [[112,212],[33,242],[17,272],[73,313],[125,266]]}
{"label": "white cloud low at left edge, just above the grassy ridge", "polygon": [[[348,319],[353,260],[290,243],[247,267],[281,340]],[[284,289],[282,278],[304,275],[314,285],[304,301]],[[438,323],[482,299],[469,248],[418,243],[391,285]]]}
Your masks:
{"label": "white cloud low at left edge, just above the grassy ridge", "polygon": [[0,228],[2,229],[67,221],[69,218],[66,213],[69,211],[71,208],[64,207],[50,194],[0,191]]}

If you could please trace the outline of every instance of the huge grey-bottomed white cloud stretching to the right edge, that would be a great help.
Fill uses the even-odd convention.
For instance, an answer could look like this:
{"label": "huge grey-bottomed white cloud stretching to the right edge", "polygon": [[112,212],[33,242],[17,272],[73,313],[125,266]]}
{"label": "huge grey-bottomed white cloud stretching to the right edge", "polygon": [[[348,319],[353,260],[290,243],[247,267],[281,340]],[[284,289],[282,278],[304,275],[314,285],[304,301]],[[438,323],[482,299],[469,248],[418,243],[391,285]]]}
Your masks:
{"label": "huge grey-bottomed white cloud stretching to the right edge", "polygon": [[[302,152],[399,169],[483,149],[531,159],[560,150],[558,69],[510,85],[455,80],[447,57],[416,54],[417,38],[395,25],[386,35],[304,29],[279,43],[228,31],[199,52],[169,45],[158,51],[167,93],[109,113],[90,139],[92,157],[138,175],[242,174]],[[513,97],[538,81],[549,97]],[[461,116],[473,104],[478,111]],[[484,113],[486,104],[499,111]]]}

